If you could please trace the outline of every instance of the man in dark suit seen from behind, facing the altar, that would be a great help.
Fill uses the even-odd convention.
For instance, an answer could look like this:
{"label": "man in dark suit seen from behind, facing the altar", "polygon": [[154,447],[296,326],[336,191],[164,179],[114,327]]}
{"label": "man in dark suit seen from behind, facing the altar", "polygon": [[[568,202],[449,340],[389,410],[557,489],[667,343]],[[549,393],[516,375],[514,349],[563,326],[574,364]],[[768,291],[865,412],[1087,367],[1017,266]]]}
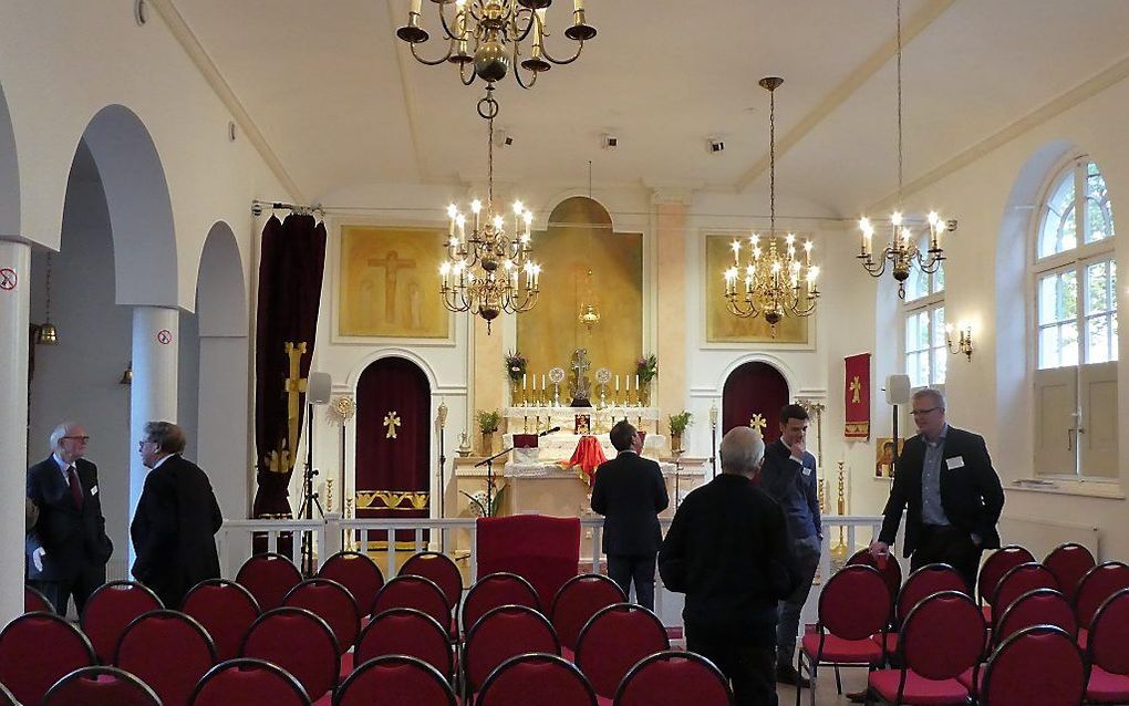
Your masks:
{"label": "man in dark suit seen from behind, facing the altar", "polygon": [[612,427],[612,446],[619,454],[596,469],[592,509],[604,516],[604,554],[607,575],[636,601],[655,609],[655,557],[663,542],[658,513],[666,509],[663,473],[654,461],[639,457],[642,441],[624,419]]}

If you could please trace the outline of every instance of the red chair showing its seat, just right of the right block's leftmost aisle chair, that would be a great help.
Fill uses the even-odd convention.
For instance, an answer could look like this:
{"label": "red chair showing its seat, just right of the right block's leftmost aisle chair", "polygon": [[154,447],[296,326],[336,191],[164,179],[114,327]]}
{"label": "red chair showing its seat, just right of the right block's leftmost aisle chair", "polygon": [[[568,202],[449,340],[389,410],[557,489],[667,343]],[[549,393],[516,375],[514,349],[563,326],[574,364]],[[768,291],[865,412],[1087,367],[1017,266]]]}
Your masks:
{"label": "red chair showing its seat, just right of the right block's leftmost aisle chair", "polygon": [[964,706],[969,690],[957,677],[980,662],[986,637],[983,612],[968,594],[935,593],[902,624],[901,666],[870,672],[869,692],[886,704]]}

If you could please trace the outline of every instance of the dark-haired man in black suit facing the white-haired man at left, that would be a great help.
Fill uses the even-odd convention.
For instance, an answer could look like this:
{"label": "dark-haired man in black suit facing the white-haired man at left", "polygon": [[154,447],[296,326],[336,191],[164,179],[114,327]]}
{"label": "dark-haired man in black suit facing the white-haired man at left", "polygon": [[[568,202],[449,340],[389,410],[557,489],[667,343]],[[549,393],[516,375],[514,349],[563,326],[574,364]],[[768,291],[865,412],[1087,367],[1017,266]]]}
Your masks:
{"label": "dark-haired man in black suit facing the white-haired man at left", "polygon": [[133,576],[173,609],[189,589],[219,577],[216,532],[224,523],[208,474],[181,457],[184,443],[175,424],[145,426],[139,452],[149,474],[130,526]]}

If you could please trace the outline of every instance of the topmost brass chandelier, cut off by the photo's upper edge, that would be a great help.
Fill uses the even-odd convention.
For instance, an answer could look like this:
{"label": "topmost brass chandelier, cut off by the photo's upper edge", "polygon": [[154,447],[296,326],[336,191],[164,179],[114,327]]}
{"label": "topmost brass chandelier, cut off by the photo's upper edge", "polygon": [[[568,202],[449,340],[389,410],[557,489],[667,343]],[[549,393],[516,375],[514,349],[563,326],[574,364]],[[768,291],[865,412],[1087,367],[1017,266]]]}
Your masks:
{"label": "topmost brass chandelier, cut off by the photo's upper edge", "polygon": [[[417,51],[417,45],[431,36],[420,26],[423,1],[411,0],[408,24],[396,29],[396,36],[408,42],[412,56],[420,63],[458,66],[458,77],[466,86],[475,78],[488,84],[499,81],[514,64],[528,72],[528,77],[523,77],[515,69],[517,82],[522,88],[532,88],[537,75],[553,64],[572,63],[580,56],[585,41],[596,36],[596,28],[585,20],[584,0],[572,0],[572,24],[564,29],[564,36],[576,42],[576,52],[564,59],[553,56],[545,49],[545,37],[550,35],[546,15],[552,1],[430,0],[436,6],[447,51],[436,59],[426,59]],[[454,12],[447,10],[452,6]]]}

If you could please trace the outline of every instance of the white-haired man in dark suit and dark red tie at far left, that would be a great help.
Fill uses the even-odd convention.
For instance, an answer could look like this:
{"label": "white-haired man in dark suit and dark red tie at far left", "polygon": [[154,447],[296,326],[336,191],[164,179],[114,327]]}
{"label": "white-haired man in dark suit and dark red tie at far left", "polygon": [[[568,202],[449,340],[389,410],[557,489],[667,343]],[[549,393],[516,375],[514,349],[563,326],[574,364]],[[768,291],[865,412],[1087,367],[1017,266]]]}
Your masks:
{"label": "white-haired man in dark suit and dark red tie at far left", "polygon": [[67,615],[71,596],[79,615],[95,589],[106,583],[114,544],[98,495],[98,467],[82,456],[90,436],[75,422],[51,433],[51,456],[27,469],[27,498],[38,507],[24,541],[27,583]]}

